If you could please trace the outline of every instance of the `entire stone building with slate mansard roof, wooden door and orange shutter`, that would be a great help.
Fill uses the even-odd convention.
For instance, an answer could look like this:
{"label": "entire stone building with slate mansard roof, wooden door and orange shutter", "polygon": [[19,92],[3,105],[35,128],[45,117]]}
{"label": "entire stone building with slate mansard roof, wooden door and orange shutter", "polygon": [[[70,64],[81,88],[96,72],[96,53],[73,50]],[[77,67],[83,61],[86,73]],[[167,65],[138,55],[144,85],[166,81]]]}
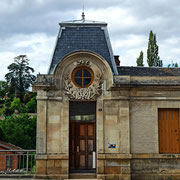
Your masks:
{"label": "entire stone building with slate mansard roof, wooden door and orange shutter", "polygon": [[37,176],[180,179],[180,69],[117,66],[106,23],[60,23],[33,89]]}

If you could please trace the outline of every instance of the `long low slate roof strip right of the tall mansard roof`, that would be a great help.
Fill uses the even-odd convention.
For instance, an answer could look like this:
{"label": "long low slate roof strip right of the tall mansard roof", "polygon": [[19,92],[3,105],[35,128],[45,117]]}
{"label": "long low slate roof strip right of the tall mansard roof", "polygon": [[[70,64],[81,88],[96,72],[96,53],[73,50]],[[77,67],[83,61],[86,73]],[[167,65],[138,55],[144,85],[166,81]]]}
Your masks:
{"label": "long low slate roof strip right of the tall mansard roof", "polygon": [[180,76],[180,68],[163,67],[117,67],[119,75],[129,76]]}

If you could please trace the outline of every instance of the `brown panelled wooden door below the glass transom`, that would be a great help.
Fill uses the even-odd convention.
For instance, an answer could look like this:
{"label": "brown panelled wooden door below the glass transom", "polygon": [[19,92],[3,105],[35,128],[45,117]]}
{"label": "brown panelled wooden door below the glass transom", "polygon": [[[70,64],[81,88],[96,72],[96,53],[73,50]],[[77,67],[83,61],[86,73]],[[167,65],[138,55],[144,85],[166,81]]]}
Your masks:
{"label": "brown panelled wooden door below the glass transom", "polygon": [[70,172],[94,172],[96,123],[70,121]]}

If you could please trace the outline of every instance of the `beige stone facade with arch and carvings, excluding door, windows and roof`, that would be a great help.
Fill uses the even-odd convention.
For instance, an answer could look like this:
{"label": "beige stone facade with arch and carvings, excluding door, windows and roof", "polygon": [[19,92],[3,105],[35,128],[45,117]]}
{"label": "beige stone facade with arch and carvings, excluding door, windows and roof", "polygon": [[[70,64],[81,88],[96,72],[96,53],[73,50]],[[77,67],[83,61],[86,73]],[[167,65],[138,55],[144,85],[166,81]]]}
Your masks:
{"label": "beige stone facade with arch and carvings, excluding door, windows and roof", "polygon": [[[94,73],[87,88],[72,82],[78,66]],[[95,101],[97,179],[180,178],[180,157],[159,153],[158,134],[158,109],[180,108],[180,77],[121,73],[113,75],[102,56],[83,50],[64,56],[52,74],[37,76],[37,177],[70,177],[69,102]]]}

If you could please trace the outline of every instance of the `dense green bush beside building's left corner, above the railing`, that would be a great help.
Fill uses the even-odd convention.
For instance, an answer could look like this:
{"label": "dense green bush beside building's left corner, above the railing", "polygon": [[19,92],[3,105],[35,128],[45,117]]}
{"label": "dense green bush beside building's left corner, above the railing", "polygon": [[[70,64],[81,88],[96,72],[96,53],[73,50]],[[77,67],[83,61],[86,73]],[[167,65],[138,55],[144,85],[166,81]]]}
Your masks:
{"label": "dense green bush beside building's left corner, above the railing", "polygon": [[24,149],[36,148],[36,117],[28,114],[11,115],[0,121],[2,134],[6,142]]}

